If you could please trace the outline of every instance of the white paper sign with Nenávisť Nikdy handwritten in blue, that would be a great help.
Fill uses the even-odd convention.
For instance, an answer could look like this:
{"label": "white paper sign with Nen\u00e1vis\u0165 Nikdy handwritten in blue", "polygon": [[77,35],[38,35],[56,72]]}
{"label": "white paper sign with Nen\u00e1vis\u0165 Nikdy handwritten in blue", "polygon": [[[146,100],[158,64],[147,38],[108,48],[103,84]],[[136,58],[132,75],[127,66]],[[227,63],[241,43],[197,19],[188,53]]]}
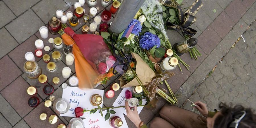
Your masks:
{"label": "white paper sign with Nen\u00e1vis\u0165 Nikdy handwritten in blue", "polygon": [[[94,108],[98,108],[97,106],[92,106],[90,103],[90,97],[93,94],[99,94],[104,96],[104,90],[98,90],[98,89],[84,89],[81,90],[78,87],[67,87],[63,89],[62,92],[62,98],[67,99],[70,102],[70,108],[67,113],[60,114],[60,116],[69,116],[69,117],[75,117],[75,108],[81,107],[83,109],[91,110]],[[102,104],[100,104],[100,107],[102,108]],[[98,117],[101,116],[99,112],[96,112],[94,114],[90,115],[90,112],[84,113],[81,117]]]}

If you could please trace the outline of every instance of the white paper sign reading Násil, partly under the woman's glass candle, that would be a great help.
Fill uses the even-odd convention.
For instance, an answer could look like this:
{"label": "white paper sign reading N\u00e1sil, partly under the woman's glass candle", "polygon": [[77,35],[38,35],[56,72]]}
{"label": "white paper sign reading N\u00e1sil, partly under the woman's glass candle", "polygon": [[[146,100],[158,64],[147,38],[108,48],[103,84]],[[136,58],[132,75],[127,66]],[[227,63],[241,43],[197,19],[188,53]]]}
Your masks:
{"label": "white paper sign reading N\u00e1sil, partly under the woman's glass candle", "polygon": [[[130,90],[131,91],[132,87],[127,87],[127,88],[123,88],[123,90],[121,91],[121,93],[119,94],[119,96],[117,97],[117,99],[115,100],[115,102],[113,103],[112,106],[114,107],[118,107],[118,106],[125,106],[125,91],[126,90]],[[146,104],[146,99],[142,100],[142,105]],[[116,108],[117,110],[123,112],[126,115],[126,110],[125,108]],[[142,111],[143,107],[138,107],[137,111],[140,114]]]}

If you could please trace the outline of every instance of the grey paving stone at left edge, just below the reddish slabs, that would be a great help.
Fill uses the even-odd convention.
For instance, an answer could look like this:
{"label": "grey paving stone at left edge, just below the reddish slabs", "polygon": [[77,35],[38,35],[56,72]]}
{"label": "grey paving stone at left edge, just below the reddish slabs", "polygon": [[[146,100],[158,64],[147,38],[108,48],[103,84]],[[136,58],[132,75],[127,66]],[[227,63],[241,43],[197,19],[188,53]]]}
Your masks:
{"label": "grey paving stone at left edge, just below the reddish slabs", "polygon": [[20,115],[13,109],[13,107],[0,95],[0,112],[11,123],[15,125],[20,119]]}

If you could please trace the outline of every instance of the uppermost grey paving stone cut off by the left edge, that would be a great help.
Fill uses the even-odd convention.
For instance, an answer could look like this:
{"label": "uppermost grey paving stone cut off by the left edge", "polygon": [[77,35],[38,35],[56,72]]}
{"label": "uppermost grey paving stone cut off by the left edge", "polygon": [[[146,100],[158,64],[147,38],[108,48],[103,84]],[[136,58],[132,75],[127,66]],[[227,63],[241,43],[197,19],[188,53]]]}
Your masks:
{"label": "uppermost grey paving stone cut off by the left edge", "polygon": [[16,18],[16,16],[11,12],[11,10],[3,3],[3,1],[0,1],[0,28],[5,26],[7,23],[9,23],[11,20]]}

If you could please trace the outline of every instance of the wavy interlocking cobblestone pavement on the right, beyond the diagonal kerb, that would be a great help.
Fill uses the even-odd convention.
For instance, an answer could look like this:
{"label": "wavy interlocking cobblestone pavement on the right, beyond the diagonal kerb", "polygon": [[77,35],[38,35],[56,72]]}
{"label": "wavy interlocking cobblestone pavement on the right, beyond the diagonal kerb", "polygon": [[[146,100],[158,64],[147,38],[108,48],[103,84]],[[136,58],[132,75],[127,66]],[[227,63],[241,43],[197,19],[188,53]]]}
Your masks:
{"label": "wavy interlocking cobblestone pavement on the right, beyond the diagonal kerb", "polygon": [[[209,110],[218,108],[220,102],[256,110],[256,22],[242,36],[245,42],[240,38],[190,100],[205,102]],[[190,105],[186,102],[184,108],[191,110]]]}

